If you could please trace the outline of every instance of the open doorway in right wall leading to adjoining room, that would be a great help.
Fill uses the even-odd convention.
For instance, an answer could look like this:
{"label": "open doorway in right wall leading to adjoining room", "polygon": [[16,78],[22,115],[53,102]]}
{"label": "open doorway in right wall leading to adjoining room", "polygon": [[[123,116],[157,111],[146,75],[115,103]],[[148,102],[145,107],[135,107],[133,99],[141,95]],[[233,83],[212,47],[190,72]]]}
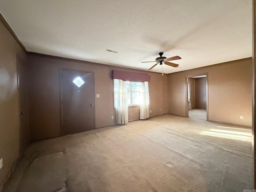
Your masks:
{"label": "open doorway in right wall leading to adjoining room", "polygon": [[208,74],[186,76],[186,117],[208,120]]}

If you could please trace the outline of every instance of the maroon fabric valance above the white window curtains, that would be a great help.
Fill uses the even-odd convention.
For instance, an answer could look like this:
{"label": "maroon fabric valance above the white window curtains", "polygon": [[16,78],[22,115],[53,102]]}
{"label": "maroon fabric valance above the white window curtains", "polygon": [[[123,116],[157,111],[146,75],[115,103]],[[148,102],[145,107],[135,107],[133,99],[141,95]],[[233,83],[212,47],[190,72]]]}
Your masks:
{"label": "maroon fabric valance above the white window curtains", "polygon": [[150,75],[112,70],[112,79],[121,79],[132,82],[150,82]]}

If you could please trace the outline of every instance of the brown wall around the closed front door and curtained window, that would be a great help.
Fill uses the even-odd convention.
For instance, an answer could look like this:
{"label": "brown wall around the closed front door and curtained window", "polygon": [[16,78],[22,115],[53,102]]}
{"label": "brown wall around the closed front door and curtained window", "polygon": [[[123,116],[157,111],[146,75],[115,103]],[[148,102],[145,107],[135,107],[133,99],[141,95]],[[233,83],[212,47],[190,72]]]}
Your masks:
{"label": "brown wall around the closed front door and curtained window", "polygon": [[[28,54],[28,100],[32,141],[60,136],[59,68],[93,71],[95,94],[100,94],[100,98],[95,97],[96,128],[116,124],[111,71],[121,69],[30,53]],[[126,71],[138,73],[136,70]],[[151,76],[150,117],[167,114],[167,75],[145,71],[142,73]],[[139,110],[139,107],[132,107],[132,120],[139,119]],[[113,120],[111,116],[114,116]]]}

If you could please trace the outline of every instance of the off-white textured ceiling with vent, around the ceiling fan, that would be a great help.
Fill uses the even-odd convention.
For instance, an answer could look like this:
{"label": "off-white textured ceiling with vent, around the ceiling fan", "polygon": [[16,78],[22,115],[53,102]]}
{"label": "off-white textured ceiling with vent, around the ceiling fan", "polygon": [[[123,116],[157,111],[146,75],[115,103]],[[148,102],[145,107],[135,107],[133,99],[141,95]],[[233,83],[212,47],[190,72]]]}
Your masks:
{"label": "off-white textured ceiling with vent, around the ceiling fan", "polygon": [[0,12],[29,52],[141,70],[180,56],[167,74],[252,56],[252,0],[1,0]]}

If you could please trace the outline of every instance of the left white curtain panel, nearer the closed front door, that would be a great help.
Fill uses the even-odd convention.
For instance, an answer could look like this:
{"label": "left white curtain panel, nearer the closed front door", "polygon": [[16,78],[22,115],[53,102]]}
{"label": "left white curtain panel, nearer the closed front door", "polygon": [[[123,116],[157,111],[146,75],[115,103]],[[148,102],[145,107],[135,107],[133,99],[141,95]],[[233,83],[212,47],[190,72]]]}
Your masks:
{"label": "left white curtain panel, nearer the closed front door", "polygon": [[120,79],[114,80],[116,83],[116,123],[127,124],[128,123],[128,104],[126,94],[126,82]]}

